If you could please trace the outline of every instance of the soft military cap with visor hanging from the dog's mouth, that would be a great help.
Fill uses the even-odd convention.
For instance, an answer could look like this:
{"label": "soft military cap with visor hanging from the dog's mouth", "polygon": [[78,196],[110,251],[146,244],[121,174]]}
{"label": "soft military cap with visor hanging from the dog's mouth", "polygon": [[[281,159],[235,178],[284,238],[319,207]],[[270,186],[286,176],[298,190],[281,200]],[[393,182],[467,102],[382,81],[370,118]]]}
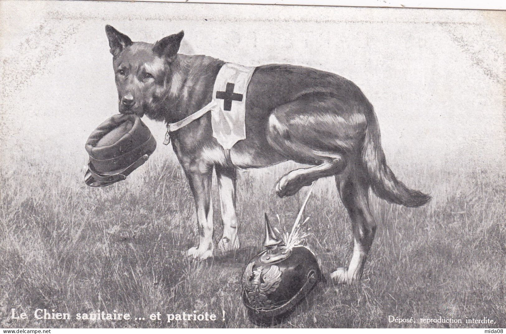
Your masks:
{"label": "soft military cap with visor hanging from the dog's mouth", "polygon": [[144,122],[133,114],[113,115],[88,138],[90,155],[85,183],[103,187],[126,179],[156,148],[156,140]]}

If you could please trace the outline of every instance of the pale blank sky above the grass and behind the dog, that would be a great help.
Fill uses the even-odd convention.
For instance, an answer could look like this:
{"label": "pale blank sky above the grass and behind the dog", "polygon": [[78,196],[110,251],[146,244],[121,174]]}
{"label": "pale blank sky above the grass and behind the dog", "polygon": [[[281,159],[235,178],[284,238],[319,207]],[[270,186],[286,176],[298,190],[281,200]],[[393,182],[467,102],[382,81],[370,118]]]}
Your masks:
{"label": "pale blank sky above the grass and behind the dog", "polygon": [[[0,168],[16,156],[81,168],[89,134],[117,112],[111,24],[246,66],[306,65],[354,81],[374,105],[389,161],[506,162],[506,12],[167,3],[0,3]],[[161,123],[144,117],[161,145]]]}

